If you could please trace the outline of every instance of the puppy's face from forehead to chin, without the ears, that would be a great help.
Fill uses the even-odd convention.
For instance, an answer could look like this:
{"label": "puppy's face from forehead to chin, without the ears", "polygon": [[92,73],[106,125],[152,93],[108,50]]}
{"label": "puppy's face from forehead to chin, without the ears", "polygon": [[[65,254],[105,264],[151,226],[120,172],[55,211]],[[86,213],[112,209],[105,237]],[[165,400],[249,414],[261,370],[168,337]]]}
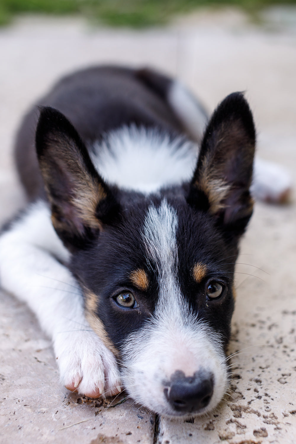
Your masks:
{"label": "puppy's face from forehead to chin, without the ears", "polygon": [[227,384],[237,251],[184,197],[151,200],[125,208],[72,270],[133,398],[162,414],[203,412]]}

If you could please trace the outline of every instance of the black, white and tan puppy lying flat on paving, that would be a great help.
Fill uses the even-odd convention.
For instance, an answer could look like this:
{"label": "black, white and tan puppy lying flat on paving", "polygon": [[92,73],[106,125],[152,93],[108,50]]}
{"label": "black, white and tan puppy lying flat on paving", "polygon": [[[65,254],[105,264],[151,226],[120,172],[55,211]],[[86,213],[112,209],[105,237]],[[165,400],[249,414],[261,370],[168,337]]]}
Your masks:
{"label": "black, white and tan puppy lying flat on paving", "polygon": [[171,79],[94,67],[38,105],[17,137],[30,204],[1,235],[2,287],[36,313],[69,390],[210,411],[228,387],[234,263],[253,211],[243,94],[205,127]]}

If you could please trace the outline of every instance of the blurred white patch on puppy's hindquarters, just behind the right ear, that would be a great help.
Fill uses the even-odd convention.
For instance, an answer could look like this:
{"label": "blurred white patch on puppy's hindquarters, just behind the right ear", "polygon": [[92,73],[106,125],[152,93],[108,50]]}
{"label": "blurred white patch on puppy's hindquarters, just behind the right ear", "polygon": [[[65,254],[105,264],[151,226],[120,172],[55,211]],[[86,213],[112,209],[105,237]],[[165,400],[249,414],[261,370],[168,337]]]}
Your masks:
{"label": "blurred white patch on puppy's hindquarters, just behind the right ear", "polygon": [[168,92],[168,102],[189,134],[200,143],[208,122],[208,116],[197,102],[197,99],[190,94],[182,83],[175,80]]}

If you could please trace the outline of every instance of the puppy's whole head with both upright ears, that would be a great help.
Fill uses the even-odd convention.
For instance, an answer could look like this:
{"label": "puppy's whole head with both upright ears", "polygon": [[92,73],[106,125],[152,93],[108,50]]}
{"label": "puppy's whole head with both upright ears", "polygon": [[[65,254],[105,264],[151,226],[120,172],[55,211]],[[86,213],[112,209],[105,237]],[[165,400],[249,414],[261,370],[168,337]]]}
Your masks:
{"label": "puppy's whole head with both upright ears", "polygon": [[39,163],[87,319],[118,357],[127,391],[154,412],[201,414],[227,389],[254,145],[249,107],[230,95],[205,131],[192,181],[145,197],[107,185],[71,124],[42,111]]}

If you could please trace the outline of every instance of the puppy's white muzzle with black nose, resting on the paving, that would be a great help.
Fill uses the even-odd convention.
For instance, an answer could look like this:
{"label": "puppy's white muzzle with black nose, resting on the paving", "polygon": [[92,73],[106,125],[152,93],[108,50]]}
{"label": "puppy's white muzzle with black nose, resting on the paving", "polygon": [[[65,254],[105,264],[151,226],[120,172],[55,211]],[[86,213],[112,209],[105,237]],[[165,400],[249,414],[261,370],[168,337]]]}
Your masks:
{"label": "puppy's white muzzle with black nose, resting on the paving", "polygon": [[122,382],[135,402],[158,415],[186,420],[221,401],[228,365],[222,341],[208,325],[177,321],[145,326],[137,342],[133,336],[126,341]]}

